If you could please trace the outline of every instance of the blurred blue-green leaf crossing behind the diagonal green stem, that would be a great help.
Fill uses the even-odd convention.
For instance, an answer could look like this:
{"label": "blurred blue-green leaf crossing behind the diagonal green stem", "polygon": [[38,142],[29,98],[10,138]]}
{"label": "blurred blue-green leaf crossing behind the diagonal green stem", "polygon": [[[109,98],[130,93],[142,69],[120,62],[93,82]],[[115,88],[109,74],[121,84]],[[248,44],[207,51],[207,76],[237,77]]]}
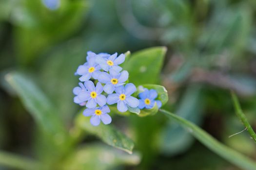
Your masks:
{"label": "blurred blue-green leaf crossing behind the diagonal green stem", "polygon": [[[197,125],[202,119],[201,111],[204,106],[200,89],[197,85],[188,87],[176,110],[178,116]],[[163,153],[172,155],[185,152],[193,141],[194,137],[189,132],[170,121],[162,130],[159,146]]]}

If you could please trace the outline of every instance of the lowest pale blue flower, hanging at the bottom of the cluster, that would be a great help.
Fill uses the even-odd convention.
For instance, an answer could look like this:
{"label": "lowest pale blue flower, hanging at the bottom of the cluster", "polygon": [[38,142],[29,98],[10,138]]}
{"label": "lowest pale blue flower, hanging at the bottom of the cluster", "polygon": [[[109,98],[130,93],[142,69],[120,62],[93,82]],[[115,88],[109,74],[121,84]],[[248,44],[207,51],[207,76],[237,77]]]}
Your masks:
{"label": "lowest pale blue flower, hanging at the bottom of the cluster", "polygon": [[85,109],[83,111],[84,116],[92,116],[90,119],[90,122],[94,126],[98,126],[100,123],[100,120],[104,124],[109,124],[111,123],[112,119],[111,117],[107,114],[110,112],[110,109],[107,105],[104,105],[103,107],[97,107],[93,109]]}

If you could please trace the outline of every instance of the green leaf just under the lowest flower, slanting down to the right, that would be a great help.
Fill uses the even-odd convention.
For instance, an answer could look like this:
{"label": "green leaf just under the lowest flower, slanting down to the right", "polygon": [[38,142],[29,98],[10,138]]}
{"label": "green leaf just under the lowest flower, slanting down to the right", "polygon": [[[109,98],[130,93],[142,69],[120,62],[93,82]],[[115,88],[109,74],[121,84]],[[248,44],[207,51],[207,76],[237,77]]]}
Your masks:
{"label": "green leaf just under the lowest flower, slanting down to the right", "polygon": [[90,123],[90,117],[85,117],[82,113],[77,116],[76,124],[85,132],[98,136],[98,138],[110,146],[116,147],[127,153],[132,153],[133,151],[133,141],[110,124],[105,125],[100,123],[98,126],[93,126]]}

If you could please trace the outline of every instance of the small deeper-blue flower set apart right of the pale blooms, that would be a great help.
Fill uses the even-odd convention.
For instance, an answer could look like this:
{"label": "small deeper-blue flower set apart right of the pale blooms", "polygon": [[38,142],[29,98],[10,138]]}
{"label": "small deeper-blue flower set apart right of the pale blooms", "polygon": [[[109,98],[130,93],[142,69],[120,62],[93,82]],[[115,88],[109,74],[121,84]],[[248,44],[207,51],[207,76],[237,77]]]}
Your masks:
{"label": "small deeper-blue flower set apart right of the pale blooms", "polygon": [[162,106],[162,103],[158,100],[155,100],[158,97],[158,93],[155,89],[148,90],[147,88],[144,88],[144,91],[142,93],[138,94],[139,99],[139,109],[143,109],[146,107],[146,109],[151,109],[155,102],[157,102],[158,108]]}

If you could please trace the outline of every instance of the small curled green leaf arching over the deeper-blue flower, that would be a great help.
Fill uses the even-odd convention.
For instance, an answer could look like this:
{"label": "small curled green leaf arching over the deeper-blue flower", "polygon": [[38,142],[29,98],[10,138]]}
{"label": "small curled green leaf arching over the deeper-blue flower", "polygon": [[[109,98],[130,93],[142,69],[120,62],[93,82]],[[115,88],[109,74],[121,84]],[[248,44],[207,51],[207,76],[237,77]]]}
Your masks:
{"label": "small curled green leaf arching over the deeper-blue flower", "polygon": [[[150,84],[146,84],[146,85],[142,85],[142,87],[144,88],[148,88],[148,89],[155,89],[158,92],[158,98],[157,100],[162,102],[162,106],[168,102],[168,93],[167,90],[164,86],[162,85],[150,85]],[[138,93],[141,92],[141,87],[138,86]]]}

